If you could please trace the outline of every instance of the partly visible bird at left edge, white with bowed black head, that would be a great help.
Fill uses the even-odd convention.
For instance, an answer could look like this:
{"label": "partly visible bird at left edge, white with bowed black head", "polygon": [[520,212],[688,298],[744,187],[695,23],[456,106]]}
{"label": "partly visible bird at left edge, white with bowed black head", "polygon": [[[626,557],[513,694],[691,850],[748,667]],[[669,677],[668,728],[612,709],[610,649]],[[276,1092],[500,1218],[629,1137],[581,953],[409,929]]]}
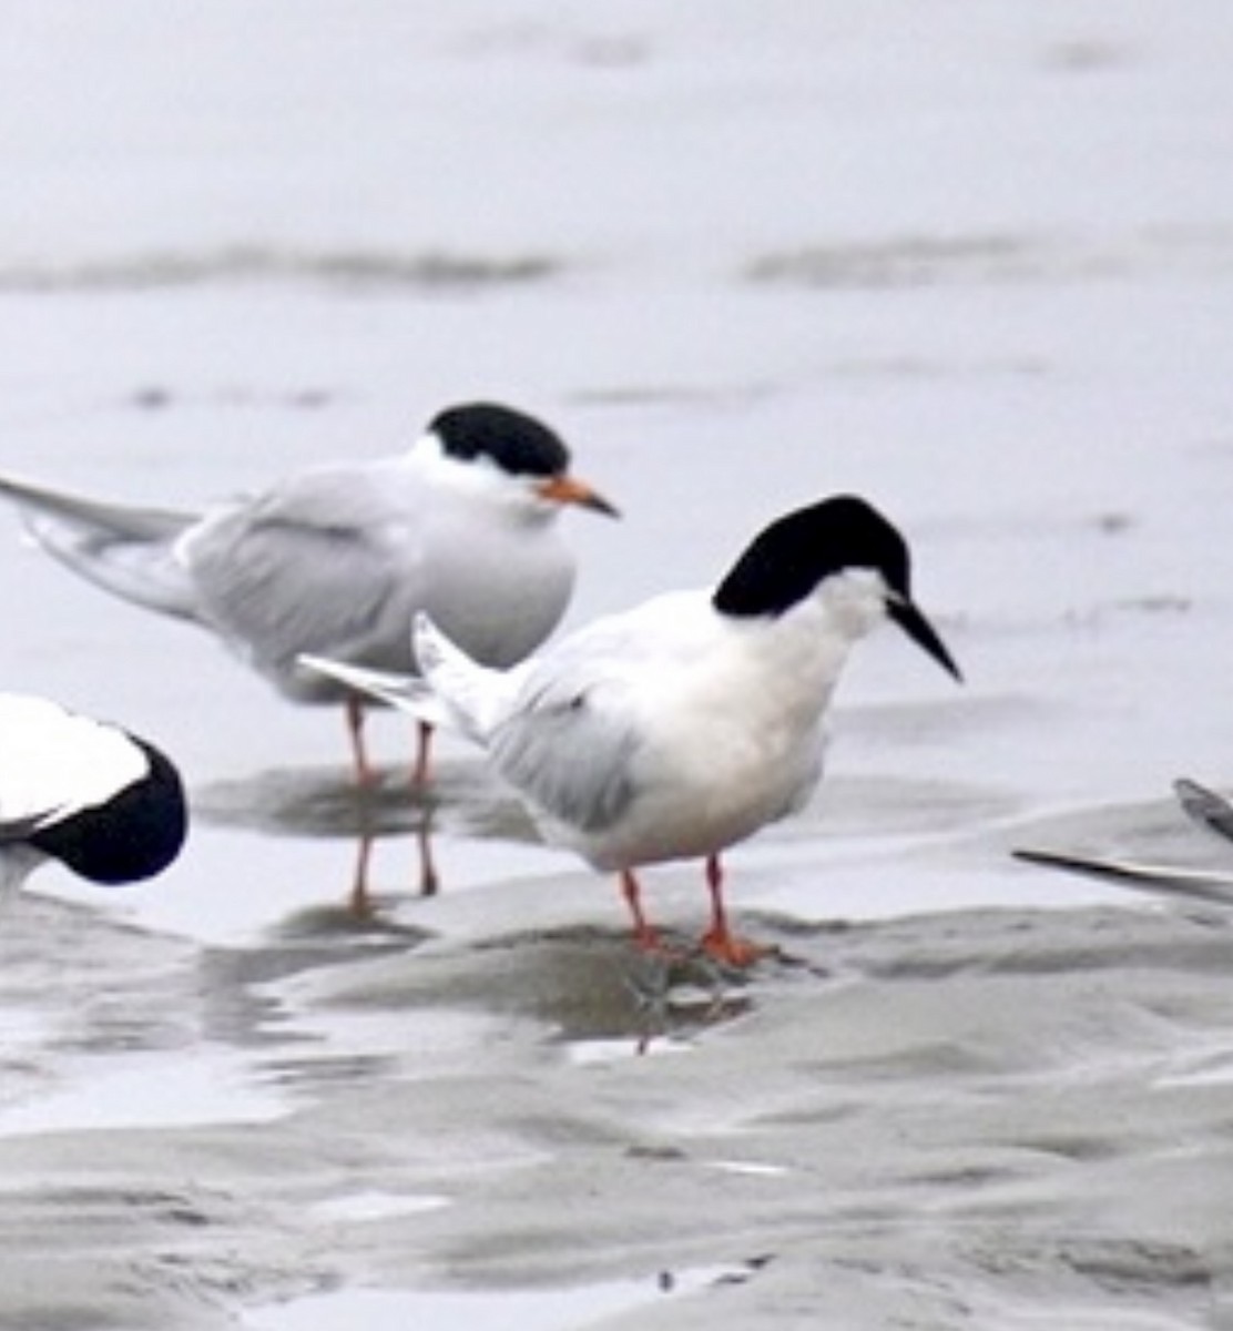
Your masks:
{"label": "partly visible bird at left edge, white with bowed black head", "polygon": [[0,886],[47,860],[136,882],[180,853],[180,775],[153,744],[56,703],[0,693]]}

